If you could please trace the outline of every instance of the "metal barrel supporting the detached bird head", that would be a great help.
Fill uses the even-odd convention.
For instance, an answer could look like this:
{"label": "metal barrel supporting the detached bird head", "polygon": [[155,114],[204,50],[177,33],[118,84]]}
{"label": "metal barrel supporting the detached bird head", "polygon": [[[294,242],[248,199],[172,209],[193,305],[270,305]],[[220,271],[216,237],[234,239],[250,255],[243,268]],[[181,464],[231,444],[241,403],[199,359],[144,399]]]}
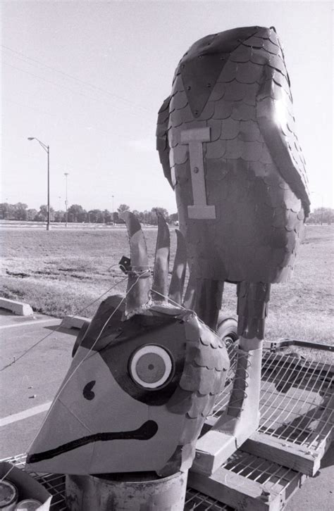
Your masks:
{"label": "metal barrel supporting the detached bird head", "polygon": [[66,476],[70,511],[183,511],[187,472]]}

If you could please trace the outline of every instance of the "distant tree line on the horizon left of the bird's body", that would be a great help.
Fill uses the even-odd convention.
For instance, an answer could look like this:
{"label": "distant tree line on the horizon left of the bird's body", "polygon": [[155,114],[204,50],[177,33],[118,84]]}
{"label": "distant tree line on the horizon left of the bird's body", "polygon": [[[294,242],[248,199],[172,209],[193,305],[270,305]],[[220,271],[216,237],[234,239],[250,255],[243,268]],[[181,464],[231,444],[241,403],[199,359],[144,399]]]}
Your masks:
{"label": "distant tree line on the horizon left of the bird's body", "polygon": [[[178,213],[172,213],[169,215],[165,208],[151,208],[151,210],[132,210],[142,224],[156,225],[156,210],[159,210],[166,218],[168,223],[174,223],[178,220]],[[80,204],[72,204],[68,210],[67,215],[64,210],[54,210],[50,208],[50,220],[51,222],[87,222],[95,224],[110,224],[124,223],[121,220],[120,215],[125,211],[131,211],[128,204],[120,204],[117,210],[111,212],[107,209],[91,209],[85,210]],[[67,219],[66,219],[67,216]],[[27,204],[18,202],[16,204],[0,203],[0,218],[3,220],[21,220],[21,221],[32,221],[32,222],[46,222],[47,221],[47,206],[42,204],[39,206],[39,210],[35,208],[28,208]]]}

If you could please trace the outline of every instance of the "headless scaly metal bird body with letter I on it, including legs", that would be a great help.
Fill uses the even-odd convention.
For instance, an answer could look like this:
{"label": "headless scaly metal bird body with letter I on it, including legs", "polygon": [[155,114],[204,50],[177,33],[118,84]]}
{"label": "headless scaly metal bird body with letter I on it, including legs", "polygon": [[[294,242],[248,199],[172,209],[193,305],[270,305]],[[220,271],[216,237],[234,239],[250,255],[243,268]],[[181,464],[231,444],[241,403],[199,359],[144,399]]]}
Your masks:
{"label": "headless scaly metal bird body with letter I on it, including legs", "polygon": [[237,284],[237,378],[216,427],[225,431],[228,424],[240,443],[259,418],[271,283],[290,276],[309,214],[290,79],[275,28],[235,28],[195,42],[175,71],[156,137],[187,242],[187,306],[216,329],[223,283]]}

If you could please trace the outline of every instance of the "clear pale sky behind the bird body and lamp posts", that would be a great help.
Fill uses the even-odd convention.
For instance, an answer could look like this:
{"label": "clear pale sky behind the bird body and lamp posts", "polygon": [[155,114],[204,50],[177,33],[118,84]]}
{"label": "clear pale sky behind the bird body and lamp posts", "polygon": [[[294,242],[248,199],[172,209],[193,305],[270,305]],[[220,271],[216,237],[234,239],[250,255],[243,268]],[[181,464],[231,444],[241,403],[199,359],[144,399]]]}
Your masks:
{"label": "clear pale sky behind the bird body and lamp posts", "polygon": [[1,1],[1,202],[176,211],[155,149],[178,61],[207,34],[276,27],[311,206],[333,206],[333,7],[323,1]]}

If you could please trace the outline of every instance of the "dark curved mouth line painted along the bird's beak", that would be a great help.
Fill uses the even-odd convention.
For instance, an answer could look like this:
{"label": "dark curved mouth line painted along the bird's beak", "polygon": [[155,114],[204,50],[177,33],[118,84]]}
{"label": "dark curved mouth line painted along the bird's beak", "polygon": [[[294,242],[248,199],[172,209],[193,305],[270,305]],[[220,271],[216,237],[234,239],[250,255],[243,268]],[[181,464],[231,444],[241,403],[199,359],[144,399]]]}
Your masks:
{"label": "dark curved mouth line painted along the bird's beak", "polygon": [[54,449],[44,450],[42,453],[35,453],[27,456],[27,464],[37,463],[42,460],[49,460],[69,450],[78,449],[92,442],[106,442],[111,440],[149,440],[158,431],[158,424],[154,420],[147,420],[138,429],[132,431],[111,431],[106,433],[95,433],[88,436],[82,436],[81,439],[73,440]]}

